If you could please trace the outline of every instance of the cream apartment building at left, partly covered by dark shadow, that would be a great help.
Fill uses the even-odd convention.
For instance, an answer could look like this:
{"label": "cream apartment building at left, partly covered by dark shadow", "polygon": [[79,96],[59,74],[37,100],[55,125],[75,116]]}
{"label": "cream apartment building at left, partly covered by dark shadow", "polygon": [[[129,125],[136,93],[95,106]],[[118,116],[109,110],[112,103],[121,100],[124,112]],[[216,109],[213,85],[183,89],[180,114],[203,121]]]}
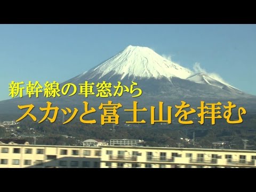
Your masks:
{"label": "cream apartment building at left, partly covered by dark shadow", "polygon": [[101,148],[0,144],[1,167],[100,167]]}

